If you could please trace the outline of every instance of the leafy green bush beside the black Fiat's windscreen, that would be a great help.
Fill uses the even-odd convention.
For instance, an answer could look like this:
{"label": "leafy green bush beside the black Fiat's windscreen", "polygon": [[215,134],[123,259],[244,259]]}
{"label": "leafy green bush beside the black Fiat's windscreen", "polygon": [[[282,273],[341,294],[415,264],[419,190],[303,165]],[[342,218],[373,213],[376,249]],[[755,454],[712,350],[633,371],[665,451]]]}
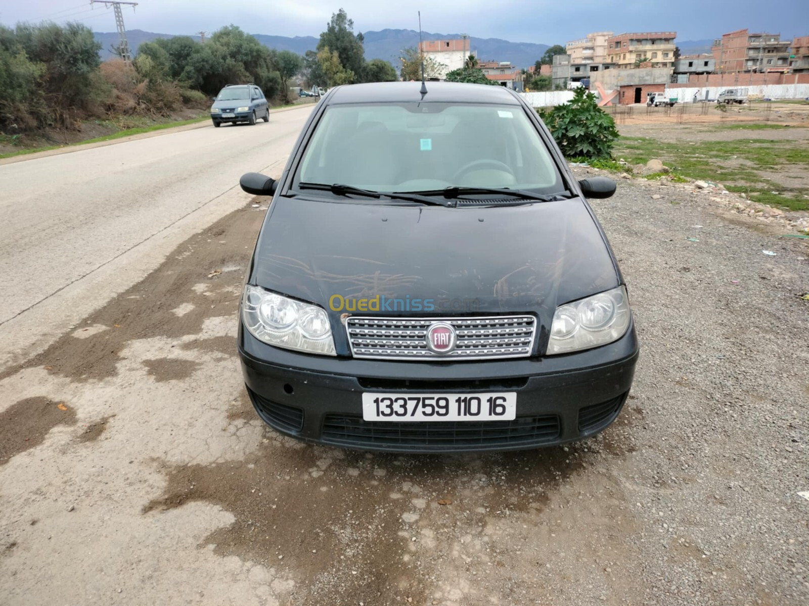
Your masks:
{"label": "leafy green bush beside the black Fiat's windscreen", "polygon": [[595,102],[595,95],[579,86],[570,103],[538,110],[565,158],[612,158],[618,138],[615,121]]}

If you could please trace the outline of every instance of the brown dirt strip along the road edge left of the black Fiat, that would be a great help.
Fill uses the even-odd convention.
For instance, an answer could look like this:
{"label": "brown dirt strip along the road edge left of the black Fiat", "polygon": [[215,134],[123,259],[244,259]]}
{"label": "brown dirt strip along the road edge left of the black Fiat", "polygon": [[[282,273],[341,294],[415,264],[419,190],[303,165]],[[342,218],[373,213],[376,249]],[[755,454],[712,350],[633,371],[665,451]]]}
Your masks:
{"label": "brown dirt strip along the road edge left of the black Fiat", "polygon": [[[111,326],[111,330],[86,339],[63,335],[39,356],[6,368],[0,373],[0,379],[11,377],[23,367],[44,366],[49,372],[72,381],[102,380],[116,376],[121,351],[132,339],[198,334],[212,309],[217,315],[232,314],[235,324],[244,267],[247,267],[255,234],[264,217],[264,212],[247,206],[189,238],[146,279],[83,322],[88,326]],[[250,235],[245,238],[245,234]],[[210,250],[205,267],[201,267],[197,252],[203,247]],[[227,271],[223,271],[225,269]],[[214,270],[221,273],[209,278]],[[172,311],[185,303],[189,308],[187,313],[178,315]],[[186,345],[227,355],[235,351],[235,340],[225,337],[201,339]],[[156,360],[150,367],[150,374],[159,381],[187,376],[183,372],[188,371],[184,361],[173,359]]]}

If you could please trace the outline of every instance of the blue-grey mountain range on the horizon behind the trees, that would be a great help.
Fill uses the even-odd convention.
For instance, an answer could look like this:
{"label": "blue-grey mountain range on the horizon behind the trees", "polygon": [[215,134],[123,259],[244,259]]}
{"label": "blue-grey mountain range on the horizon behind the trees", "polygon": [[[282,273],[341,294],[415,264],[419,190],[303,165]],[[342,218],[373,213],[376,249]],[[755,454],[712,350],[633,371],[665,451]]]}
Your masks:
{"label": "blue-grey mountain range on the horizon behind the trees", "polygon": [[[117,32],[94,32],[95,40],[101,43],[101,58],[112,57],[110,47],[118,43]],[[365,58],[384,59],[398,67],[398,58],[402,48],[418,46],[418,32],[410,29],[383,29],[381,32],[363,32],[365,36]],[[307,50],[315,50],[318,40],[316,36],[268,36],[266,34],[253,34],[261,44],[277,50],[289,50],[303,55]],[[422,32],[424,40],[449,40],[460,38],[460,34],[434,34]],[[158,38],[173,38],[172,34],[159,34],[144,32],[139,29],[127,30],[126,40],[129,48],[137,52],[138,46]],[[534,44],[532,42],[510,42],[498,38],[476,38],[470,36],[469,45],[472,51],[477,51],[481,61],[510,61],[511,65],[527,68],[534,65],[548,48],[548,44]]]}

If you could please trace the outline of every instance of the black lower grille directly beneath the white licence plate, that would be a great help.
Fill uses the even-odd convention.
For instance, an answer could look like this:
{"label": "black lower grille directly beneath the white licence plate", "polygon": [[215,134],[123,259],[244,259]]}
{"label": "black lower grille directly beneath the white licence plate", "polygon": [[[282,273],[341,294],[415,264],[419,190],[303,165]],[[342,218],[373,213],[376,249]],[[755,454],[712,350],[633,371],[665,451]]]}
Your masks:
{"label": "black lower grille directly beneath the white licence plate", "polygon": [[326,415],[321,438],[331,444],[366,448],[429,447],[507,448],[556,440],[557,415],[518,417],[513,421],[396,423],[364,421],[354,415]]}

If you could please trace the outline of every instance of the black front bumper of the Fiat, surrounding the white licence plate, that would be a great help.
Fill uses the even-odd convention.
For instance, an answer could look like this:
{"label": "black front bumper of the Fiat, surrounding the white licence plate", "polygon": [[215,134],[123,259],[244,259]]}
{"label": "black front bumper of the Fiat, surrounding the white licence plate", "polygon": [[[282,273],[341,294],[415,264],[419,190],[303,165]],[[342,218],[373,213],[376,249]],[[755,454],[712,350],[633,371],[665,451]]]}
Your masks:
{"label": "black front bumper of the Fiat, surrounding the white licence plate", "polygon": [[[428,363],[286,351],[239,330],[256,412],[289,436],[387,452],[518,450],[581,440],[624,405],[638,356],[634,326],[615,343],[542,359]],[[489,422],[366,422],[362,393],[517,393],[517,418]]]}

